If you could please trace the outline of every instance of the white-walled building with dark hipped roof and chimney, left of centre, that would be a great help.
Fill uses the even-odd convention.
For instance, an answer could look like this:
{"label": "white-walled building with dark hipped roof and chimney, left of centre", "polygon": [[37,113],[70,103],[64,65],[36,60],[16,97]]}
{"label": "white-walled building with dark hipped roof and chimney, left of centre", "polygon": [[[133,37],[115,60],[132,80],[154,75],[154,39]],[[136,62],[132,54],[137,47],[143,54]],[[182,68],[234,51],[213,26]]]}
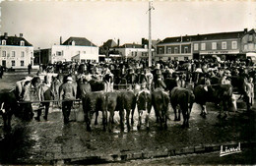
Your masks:
{"label": "white-walled building with dark hipped roof and chimney, left of centre", "polygon": [[98,62],[98,47],[85,37],[70,37],[51,48],[50,63],[54,62]]}

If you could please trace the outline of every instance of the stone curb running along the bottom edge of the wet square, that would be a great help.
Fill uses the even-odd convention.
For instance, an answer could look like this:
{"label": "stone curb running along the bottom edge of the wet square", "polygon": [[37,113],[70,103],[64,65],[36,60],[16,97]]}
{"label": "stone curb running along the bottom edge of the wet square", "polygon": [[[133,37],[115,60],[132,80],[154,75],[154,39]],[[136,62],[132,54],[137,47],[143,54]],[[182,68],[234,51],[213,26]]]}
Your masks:
{"label": "stone curb running along the bottom edge of the wet square", "polygon": [[[103,164],[103,163],[115,163],[115,162],[125,162],[129,160],[137,160],[137,159],[153,159],[153,158],[164,158],[170,156],[178,156],[178,155],[188,155],[188,154],[200,154],[200,153],[210,153],[215,151],[221,151],[221,146],[237,146],[238,142],[226,142],[224,144],[207,144],[207,145],[196,145],[190,147],[183,147],[180,149],[163,149],[157,151],[142,151],[142,152],[120,152],[117,154],[109,154],[102,156],[81,156],[81,158],[52,158],[50,163],[57,164],[65,163],[65,164]],[[240,142],[241,150],[243,148],[255,147],[256,141],[252,142]],[[53,155],[55,156],[55,155]]]}

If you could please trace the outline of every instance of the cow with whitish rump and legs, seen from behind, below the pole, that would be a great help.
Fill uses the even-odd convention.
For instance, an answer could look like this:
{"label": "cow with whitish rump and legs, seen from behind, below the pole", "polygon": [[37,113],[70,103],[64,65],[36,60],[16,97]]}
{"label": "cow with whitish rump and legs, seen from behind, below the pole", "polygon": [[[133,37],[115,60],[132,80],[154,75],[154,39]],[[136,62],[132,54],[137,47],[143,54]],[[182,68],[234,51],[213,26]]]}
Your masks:
{"label": "cow with whitish rump and legs, seen from behind, below the pole", "polygon": [[137,96],[137,108],[138,108],[138,115],[139,115],[139,122],[137,125],[138,130],[141,129],[142,124],[142,114],[143,111],[146,111],[146,126],[147,129],[150,129],[150,114],[152,109],[152,94],[150,90],[142,90],[139,92]]}

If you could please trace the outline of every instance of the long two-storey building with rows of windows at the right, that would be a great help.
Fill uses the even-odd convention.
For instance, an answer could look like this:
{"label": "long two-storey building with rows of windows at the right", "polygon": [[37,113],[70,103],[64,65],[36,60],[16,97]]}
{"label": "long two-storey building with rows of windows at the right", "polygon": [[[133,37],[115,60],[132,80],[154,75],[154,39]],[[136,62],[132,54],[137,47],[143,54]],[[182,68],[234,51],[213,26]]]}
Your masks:
{"label": "long two-storey building with rows of windows at the right", "polygon": [[220,57],[234,60],[255,52],[255,30],[167,37],[157,46],[157,60],[188,60]]}

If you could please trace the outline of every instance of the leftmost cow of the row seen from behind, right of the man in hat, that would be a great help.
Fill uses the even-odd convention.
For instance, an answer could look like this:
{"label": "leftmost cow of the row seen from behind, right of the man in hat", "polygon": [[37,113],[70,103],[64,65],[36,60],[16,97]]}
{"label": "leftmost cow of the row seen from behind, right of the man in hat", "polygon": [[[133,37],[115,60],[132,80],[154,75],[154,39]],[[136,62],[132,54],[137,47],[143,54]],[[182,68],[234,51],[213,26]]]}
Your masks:
{"label": "leftmost cow of the row seen from behind, right of the man in hat", "polygon": [[97,116],[98,111],[102,112],[102,124],[103,131],[106,130],[106,118],[107,113],[105,110],[105,96],[102,91],[94,91],[86,94],[85,97],[82,98],[83,110],[85,113],[85,121],[87,123],[87,131],[91,132],[91,121],[94,113],[96,113],[95,125],[97,125]]}

